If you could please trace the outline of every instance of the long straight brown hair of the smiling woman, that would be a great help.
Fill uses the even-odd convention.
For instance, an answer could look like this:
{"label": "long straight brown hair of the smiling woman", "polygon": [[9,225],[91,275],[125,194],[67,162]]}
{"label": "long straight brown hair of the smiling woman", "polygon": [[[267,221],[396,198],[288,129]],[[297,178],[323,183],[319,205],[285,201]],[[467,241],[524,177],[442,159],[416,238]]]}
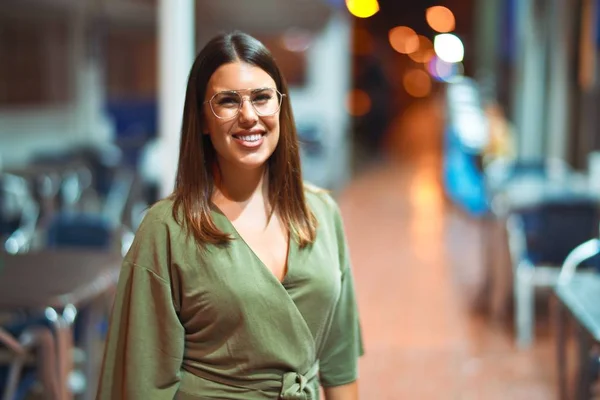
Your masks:
{"label": "long straight brown hair of the smiling woman", "polygon": [[217,162],[210,135],[202,133],[204,97],[212,74],[224,64],[242,61],[268,73],[284,94],[279,114],[279,142],[268,160],[268,198],[273,212],[281,218],[300,247],[313,243],[317,221],[304,198],[298,135],[289,102],[285,78],[270,51],[258,40],[242,32],[219,35],[200,51],[188,79],[179,163],[175,190],[171,195],[173,217],[185,226],[200,245],[225,244],[231,237],[215,225],[211,216],[214,190],[213,167]]}

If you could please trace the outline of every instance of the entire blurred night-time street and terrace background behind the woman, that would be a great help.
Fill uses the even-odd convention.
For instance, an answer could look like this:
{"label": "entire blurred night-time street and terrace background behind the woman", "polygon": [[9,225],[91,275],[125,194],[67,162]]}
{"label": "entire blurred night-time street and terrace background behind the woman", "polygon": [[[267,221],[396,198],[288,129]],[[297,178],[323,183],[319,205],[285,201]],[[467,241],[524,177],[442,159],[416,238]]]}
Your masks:
{"label": "entire blurred night-time street and terrace background behind the woman", "polygon": [[0,398],[91,399],[170,193],[199,49],[238,29],[340,203],[363,399],[600,398],[598,0],[0,1]]}

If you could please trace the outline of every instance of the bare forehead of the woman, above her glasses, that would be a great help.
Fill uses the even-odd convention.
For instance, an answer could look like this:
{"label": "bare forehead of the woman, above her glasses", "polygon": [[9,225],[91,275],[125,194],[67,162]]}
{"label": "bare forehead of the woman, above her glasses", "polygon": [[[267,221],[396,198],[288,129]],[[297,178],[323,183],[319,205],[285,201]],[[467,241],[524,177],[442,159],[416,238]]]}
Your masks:
{"label": "bare forehead of the woman, above her glasses", "polygon": [[208,81],[213,92],[275,87],[275,81],[263,69],[244,62],[223,64]]}

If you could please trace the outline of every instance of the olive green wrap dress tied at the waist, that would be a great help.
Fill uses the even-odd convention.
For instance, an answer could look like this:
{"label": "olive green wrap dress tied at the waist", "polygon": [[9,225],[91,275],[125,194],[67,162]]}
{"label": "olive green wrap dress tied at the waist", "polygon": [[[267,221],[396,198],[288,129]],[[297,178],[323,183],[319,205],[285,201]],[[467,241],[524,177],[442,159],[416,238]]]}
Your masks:
{"label": "olive green wrap dress tied at the waist", "polygon": [[125,257],[98,399],[318,399],[357,379],[362,354],[342,220],[326,193],[306,189],[315,243],[290,241],[280,282],[218,210],[233,242],[198,250],[152,207]]}

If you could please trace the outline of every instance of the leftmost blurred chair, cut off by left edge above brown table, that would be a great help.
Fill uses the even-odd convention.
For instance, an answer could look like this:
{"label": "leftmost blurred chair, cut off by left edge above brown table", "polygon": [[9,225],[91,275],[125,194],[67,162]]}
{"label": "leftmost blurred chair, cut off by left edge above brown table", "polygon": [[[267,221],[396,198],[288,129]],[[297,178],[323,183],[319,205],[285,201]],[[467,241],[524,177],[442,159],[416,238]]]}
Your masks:
{"label": "leftmost blurred chair, cut off by left edge above brown table", "polygon": [[27,181],[0,174],[0,238],[5,251],[28,251],[36,233],[39,206],[30,194]]}

